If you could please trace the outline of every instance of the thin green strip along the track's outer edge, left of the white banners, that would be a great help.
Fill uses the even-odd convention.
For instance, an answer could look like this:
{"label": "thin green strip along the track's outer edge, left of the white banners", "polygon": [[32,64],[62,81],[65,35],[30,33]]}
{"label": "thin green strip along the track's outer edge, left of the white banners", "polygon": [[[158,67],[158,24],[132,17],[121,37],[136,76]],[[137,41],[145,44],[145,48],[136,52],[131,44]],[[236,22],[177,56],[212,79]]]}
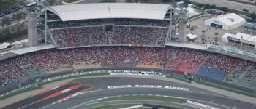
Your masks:
{"label": "thin green strip along the track's outer edge, left of the white banners", "polygon": [[44,83],[40,83],[38,85],[42,86],[42,85],[45,85],[45,84],[50,84],[50,83],[53,83],[53,82],[56,82],[56,81],[62,81],[62,80],[69,79],[69,78],[79,78],[79,77],[86,77],[86,76],[104,76],[104,75],[110,75],[110,73],[91,73],[91,74],[80,75],[80,76],[69,76],[69,77],[65,77],[65,78],[59,78],[59,79],[56,79],[56,80],[53,80],[53,81],[47,81],[47,82],[44,82]]}

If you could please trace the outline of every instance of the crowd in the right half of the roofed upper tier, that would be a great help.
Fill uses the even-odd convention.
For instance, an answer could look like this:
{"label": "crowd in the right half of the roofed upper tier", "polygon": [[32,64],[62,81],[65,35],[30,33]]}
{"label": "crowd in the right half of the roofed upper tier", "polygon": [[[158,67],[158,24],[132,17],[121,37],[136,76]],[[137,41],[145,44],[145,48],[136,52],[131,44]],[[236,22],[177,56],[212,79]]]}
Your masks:
{"label": "crowd in the right half of the roofed upper tier", "polygon": [[[166,36],[162,38],[162,33],[167,33],[166,30],[165,28],[115,26],[115,33],[111,38],[112,44],[162,46],[166,40]],[[157,39],[159,40],[156,44]]]}

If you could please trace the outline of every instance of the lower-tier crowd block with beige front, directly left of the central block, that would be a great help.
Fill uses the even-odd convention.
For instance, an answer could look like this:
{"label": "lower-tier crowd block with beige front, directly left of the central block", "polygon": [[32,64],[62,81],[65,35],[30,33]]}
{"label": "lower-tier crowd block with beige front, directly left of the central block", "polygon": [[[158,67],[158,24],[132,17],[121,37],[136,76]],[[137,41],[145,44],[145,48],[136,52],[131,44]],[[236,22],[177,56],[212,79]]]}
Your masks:
{"label": "lower-tier crowd block with beige front, directly left of the central block", "polygon": [[64,54],[71,65],[95,65],[100,63],[100,56],[95,47],[64,49]]}

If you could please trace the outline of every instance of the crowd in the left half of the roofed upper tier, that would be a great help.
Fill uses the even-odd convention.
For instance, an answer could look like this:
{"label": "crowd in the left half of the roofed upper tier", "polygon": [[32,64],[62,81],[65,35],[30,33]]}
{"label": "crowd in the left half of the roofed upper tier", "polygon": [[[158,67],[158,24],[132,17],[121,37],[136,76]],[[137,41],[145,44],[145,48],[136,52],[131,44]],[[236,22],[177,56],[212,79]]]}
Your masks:
{"label": "crowd in the left half of the roofed upper tier", "polygon": [[64,28],[51,31],[59,47],[80,47],[108,44],[102,26]]}

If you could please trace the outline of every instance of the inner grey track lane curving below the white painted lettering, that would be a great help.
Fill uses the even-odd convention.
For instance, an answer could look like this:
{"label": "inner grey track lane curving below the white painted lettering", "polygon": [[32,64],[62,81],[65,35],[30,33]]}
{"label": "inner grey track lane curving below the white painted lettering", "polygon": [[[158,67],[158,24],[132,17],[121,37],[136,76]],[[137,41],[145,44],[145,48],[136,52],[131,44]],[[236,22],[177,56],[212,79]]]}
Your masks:
{"label": "inner grey track lane curving below the white painted lettering", "polygon": [[221,97],[216,95],[203,94],[198,92],[186,92],[180,90],[171,89],[158,89],[158,88],[119,88],[119,89],[102,89],[95,92],[88,92],[80,94],[79,96],[72,97],[69,100],[50,105],[46,108],[72,108],[75,105],[79,105],[91,100],[97,100],[102,97],[110,97],[116,95],[132,95],[132,94],[161,94],[167,96],[184,97],[195,102],[200,102],[205,105],[211,105],[216,108],[229,109],[229,108],[241,108],[251,109],[254,108],[252,104],[233,100],[229,97]]}

